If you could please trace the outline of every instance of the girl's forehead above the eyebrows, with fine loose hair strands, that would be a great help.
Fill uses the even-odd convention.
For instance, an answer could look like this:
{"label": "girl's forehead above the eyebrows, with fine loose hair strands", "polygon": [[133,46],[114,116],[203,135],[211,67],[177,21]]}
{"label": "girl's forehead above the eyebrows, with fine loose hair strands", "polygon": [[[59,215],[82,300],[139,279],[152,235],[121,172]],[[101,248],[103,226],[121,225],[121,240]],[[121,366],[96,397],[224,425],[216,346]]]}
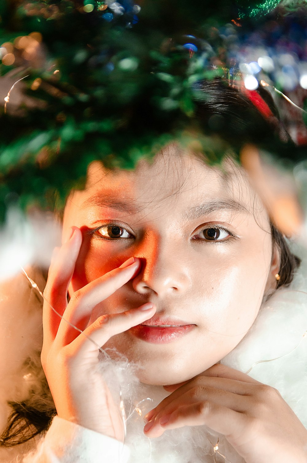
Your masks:
{"label": "girl's forehead above the eyebrows, with fine loose hair strands", "polygon": [[245,172],[231,160],[225,160],[220,167],[211,167],[198,157],[178,153],[160,153],[153,161],[141,159],[133,170],[107,169],[102,163],[91,163],[84,193],[141,202],[178,196],[195,200],[230,197],[244,204],[251,199],[255,202],[255,192]]}

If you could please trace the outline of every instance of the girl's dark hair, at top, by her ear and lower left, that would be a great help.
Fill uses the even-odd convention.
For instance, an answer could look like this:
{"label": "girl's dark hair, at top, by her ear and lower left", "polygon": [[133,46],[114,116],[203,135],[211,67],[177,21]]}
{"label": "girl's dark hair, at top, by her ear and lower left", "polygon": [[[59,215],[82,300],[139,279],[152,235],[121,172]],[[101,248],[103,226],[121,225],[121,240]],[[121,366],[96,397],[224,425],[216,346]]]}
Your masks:
{"label": "girl's dark hair, at top, by her ear and lower left", "polygon": [[[221,79],[198,82],[196,89],[197,119],[205,132],[217,133],[232,145],[248,142],[258,144],[259,133],[262,142],[268,144],[273,139],[275,142],[276,138],[281,143],[292,143],[281,124],[271,95],[264,88],[258,88],[257,93],[272,112],[269,119],[258,111],[246,93],[229,86],[228,82]],[[292,254],[286,237],[277,229],[272,219],[270,227],[273,249],[276,246],[280,253],[280,280],[276,281],[276,288],[286,287],[292,282],[301,259]],[[56,414],[39,356],[38,352],[36,361],[32,362],[32,368],[33,374],[40,378],[40,398],[33,400],[33,394],[30,394],[30,397],[22,402],[7,402],[12,408],[12,413],[0,436],[2,447],[23,444],[36,435],[45,433]],[[38,397],[38,391],[35,392],[35,397]]]}

